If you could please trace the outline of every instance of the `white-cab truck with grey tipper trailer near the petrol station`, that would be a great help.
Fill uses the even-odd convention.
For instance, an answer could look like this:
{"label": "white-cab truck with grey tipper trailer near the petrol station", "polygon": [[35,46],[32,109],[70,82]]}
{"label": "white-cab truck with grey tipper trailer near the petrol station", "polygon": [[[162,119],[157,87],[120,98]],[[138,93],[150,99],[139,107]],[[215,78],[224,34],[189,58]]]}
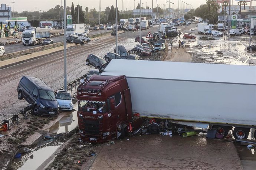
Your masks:
{"label": "white-cab truck with grey tipper trailer near the petrol station", "polygon": [[43,40],[50,37],[49,28],[32,28],[22,32],[22,44],[35,45],[41,44]]}

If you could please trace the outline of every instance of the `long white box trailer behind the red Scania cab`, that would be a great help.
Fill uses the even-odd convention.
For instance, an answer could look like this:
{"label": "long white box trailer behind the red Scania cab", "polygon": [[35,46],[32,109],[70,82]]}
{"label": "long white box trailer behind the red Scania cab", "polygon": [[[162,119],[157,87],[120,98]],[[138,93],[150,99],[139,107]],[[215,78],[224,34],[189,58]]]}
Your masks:
{"label": "long white box trailer behind the red Scania cab", "polygon": [[235,127],[236,139],[256,127],[255,66],[112,59],[99,72],[126,76],[132,111],[142,117],[212,126],[224,136]]}

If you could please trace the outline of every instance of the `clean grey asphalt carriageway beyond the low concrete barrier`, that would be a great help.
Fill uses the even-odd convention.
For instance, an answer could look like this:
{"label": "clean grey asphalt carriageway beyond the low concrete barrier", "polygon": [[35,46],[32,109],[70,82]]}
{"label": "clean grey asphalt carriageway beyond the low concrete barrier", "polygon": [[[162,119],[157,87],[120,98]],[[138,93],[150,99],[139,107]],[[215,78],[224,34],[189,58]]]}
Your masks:
{"label": "clean grey asphalt carriageway beyond the low concrete barrier", "polygon": [[[92,35],[95,34],[100,34],[100,33],[105,33],[108,32],[109,30],[97,30],[97,31],[90,31],[89,37],[92,37]],[[64,41],[64,36],[58,36],[58,37],[52,37],[51,38],[53,40],[54,43],[59,43],[59,42],[63,42]],[[37,48],[40,47],[42,45],[22,45],[22,43],[19,44],[13,44],[13,45],[5,45],[4,46],[4,50],[5,50],[5,54],[9,54],[9,53],[13,53],[13,52],[18,52],[18,51],[22,51],[22,50],[28,50],[31,48]]]}

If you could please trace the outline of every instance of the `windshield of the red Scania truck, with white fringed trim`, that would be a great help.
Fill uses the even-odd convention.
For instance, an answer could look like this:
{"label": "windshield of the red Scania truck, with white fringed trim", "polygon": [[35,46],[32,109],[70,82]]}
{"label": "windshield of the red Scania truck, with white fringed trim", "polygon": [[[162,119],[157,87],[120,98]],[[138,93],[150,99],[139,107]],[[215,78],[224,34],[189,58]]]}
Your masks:
{"label": "windshield of the red Scania truck, with white fringed trim", "polygon": [[78,110],[84,112],[96,112],[96,113],[105,113],[106,112],[106,102],[105,101],[78,101]]}

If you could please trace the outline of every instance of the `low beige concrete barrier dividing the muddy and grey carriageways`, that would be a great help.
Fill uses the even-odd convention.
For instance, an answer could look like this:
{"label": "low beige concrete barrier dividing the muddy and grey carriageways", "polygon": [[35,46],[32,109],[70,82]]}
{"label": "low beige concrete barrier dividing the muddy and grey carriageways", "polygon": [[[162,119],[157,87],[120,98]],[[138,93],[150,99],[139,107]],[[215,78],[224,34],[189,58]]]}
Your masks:
{"label": "low beige concrete barrier dividing the muddy and grey carriageways", "polygon": [[[75,45],[76,44],[67,44],[67,48],[71,47],[71,46],[75,46]],[[45,54],[50,54],[52,52],[61,51],[61,50],[64,50],[64,46],[51,48],[49,50],[43,50],[43,51],[39,51],[39,52],[34,52],[32,54],[22,55],[20,57],[6,59],[6,60],[3,60],[3,61],[0,61],[0,67],[6,66],[6,65],[9,65],[9,64],[13,64],[15,62],[24,61],[26,59],[38,57],[40,55],[45,55]]]}

